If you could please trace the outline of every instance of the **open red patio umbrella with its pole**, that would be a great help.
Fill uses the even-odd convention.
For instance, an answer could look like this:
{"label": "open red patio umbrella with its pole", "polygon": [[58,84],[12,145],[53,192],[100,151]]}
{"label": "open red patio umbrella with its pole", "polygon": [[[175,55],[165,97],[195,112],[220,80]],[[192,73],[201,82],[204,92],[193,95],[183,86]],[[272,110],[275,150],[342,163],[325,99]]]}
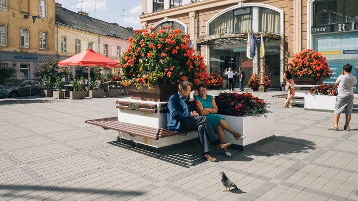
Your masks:
{"label": "open red patio umbrella with its pole", "polygon": [[92,49],[74,55],[58,63],[58,66],[83,66],[83,67],[120,67],[116,62],[104,55],[94,52]]}

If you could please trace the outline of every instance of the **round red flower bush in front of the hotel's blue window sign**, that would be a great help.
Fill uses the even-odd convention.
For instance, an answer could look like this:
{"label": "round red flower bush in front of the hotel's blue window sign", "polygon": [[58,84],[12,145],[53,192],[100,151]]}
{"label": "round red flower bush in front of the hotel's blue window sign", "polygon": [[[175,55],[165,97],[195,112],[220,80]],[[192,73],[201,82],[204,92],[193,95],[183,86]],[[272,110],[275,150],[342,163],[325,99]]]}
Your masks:
{"label": "round red flower bush in front of the hotel's blue window sign", "polygon": [[[330,70],[326,58],[323,57],[320,52],[310,49],[296,53],[291,64],[293,65],[293,77],[299,79],[306,78],[308,80],[313,79],[312,82],[314,82],[314,84],[317,84],[317,81],[320,79],[323,82],[323,79],[330,78],[333,72]],[[300,80],[295,80],[295,82],[299,83]],[[309,83],[307,81],[305,82]]]}

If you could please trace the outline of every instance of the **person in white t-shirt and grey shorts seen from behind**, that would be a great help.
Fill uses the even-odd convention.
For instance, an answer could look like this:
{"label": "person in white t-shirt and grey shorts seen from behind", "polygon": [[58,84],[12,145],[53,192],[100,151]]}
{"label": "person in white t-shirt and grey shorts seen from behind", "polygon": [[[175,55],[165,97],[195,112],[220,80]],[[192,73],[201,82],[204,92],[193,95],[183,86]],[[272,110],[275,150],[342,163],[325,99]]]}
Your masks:
{"label": "person in white t-shirt and grey shorts seen from behind", "polygon": [[343,66],[343,72],[340,76],[338,76],[335,86],[338,86],[338,96],[336,98],[335,103],[335,111],[334,111],[334,125],[329,127],[329,130],[338,131],[338,122],[340,115],[343,110],[345,110],[346,114],[346,123],[342,126],[342,129],[349,131],[349,123],[352,118],[352,110],[353,110],[353,87],[357,85],[357,77],[352,75],[352,65],[346,64]]}

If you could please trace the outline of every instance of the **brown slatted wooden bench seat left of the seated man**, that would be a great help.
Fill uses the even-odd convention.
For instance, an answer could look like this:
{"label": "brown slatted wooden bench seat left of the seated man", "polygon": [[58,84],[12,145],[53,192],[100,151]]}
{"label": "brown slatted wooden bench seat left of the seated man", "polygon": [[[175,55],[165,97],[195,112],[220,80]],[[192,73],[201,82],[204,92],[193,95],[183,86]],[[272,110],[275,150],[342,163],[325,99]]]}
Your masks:
{"label": "brown slatted wooden bench seat left of the seated man", "polygon": [[139,126],[135,124],[119,122],[118,117],[110,117],[103,119],[94,119],[85,121],[88,124],[102,127],[106,130],[115,130],[130,134],[132,136],[141,136],[149,139],[159,140],[160,138],[183,134],[186,135],[188,132],[175,132],[170,131],[166,128],[156,129],[151,127]]}

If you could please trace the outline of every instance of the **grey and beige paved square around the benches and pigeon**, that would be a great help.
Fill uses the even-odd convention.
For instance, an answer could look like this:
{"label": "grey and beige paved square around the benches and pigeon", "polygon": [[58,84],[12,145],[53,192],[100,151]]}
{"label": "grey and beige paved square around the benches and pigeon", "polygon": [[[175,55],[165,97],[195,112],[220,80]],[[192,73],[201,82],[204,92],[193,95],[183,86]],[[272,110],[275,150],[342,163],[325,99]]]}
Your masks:
{"label": "grey and beige paved square around the benches and pigeon", "polygon": [[[357,201],[357,114],[351,131],[330,131],[333,113],[283,108],[272,97],[282,93],[254,92],[270,103],[275,140],[232,157],[215,150],[219,163],[200,159],[199,145],[159,155],[85,124],[116,116],[128,96],[0,99],[0,200]],[[223,192],[220,171],[239,190]]]}

